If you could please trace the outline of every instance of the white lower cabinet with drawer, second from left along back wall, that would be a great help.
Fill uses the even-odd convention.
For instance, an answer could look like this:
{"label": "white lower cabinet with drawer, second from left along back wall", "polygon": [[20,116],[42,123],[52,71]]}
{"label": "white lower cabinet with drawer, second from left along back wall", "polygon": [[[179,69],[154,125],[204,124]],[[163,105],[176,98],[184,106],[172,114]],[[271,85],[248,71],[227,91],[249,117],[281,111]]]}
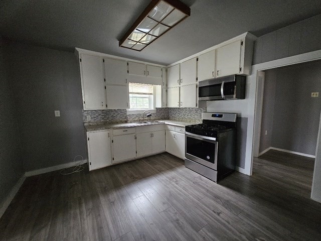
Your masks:
{"label": "white lower cabinet with drawer, second from left along back wall", "polygon": [[[128,133],[128,134],[127,134]],[[120,135],[126,134],[126,135]],[[118,163],[136,157],[136,134],[135,128],[125,128],[113,130],[112,163]]]}

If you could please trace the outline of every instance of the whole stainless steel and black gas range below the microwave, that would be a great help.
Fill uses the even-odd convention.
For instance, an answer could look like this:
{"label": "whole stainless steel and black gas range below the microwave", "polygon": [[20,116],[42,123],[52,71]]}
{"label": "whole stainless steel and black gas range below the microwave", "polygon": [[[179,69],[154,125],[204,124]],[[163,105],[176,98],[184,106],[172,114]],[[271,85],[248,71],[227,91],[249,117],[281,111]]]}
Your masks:
{"label": "whole stainless steel and black gas range below the microwave", "polygon": [[236,113],[203,112],[185,128],[185,166],[215,182],[235,169]]}

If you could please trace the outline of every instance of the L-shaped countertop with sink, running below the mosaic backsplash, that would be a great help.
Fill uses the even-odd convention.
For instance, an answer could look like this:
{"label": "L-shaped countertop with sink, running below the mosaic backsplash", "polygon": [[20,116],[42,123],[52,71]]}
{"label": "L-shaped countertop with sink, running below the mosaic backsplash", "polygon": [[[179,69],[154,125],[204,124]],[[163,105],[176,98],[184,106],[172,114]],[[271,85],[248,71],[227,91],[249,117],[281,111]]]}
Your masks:
{"label": "L-shaped countertop with sink, running below the mosaic backsplash", "polygon": [[[201,121],[200,121],[201,122]],[[146,124],[137,124],[137,123],[119,123],[119,124],[105,124],[105,125],[92,125],[92,126],[85,126],[87,132],[96,132],[96,131],[104,131],[110,129],[117,129],[117,128],[126,128],[126,127],[141,127],[141,126],[148,126],[148,125],[173,125],[178,127],[185,127],[188,125],[193,125],[200,122],[181,122],[181,121],[173,121],[170,119],[162,119],[161,121],[155,123],[146,123]]]}

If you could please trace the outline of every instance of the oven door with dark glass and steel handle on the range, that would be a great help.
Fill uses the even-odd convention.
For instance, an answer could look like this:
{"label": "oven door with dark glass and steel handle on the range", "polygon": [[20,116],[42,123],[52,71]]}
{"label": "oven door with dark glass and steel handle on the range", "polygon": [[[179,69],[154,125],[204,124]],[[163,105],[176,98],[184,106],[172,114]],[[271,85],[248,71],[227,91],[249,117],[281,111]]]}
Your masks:
{"label": "oven door with dark glass and steel handle on the range", "polygon": [[215,138],[185,133],[185,158],[217,170],[217,151]]}

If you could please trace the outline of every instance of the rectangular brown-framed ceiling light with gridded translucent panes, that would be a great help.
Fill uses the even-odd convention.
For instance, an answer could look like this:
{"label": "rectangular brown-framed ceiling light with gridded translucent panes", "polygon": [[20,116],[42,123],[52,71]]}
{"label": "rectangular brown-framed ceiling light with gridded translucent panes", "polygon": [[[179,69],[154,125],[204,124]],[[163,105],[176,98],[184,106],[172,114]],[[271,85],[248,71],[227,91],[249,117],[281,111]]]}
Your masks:
{"label": "rectangular brown-framed ceiling light with gridded translucent panes", "polygon": [[152,0],[119,41],[119,47],[141,51],[191,16],[191,9],[178,0]]}

